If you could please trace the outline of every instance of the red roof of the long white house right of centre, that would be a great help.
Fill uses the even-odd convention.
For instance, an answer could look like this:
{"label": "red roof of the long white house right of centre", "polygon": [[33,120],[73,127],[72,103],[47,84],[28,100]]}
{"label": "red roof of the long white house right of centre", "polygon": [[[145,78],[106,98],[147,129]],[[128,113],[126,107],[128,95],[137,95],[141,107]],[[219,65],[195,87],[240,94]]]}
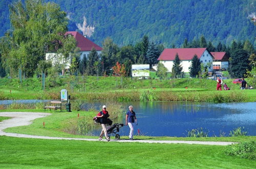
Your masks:
{"label": "red roof of the long white house right of centre", "polygon": [[173,48],[164,49],[157,60],[174,60],[178,53],[180,60],[191,60],[196,54],[198,58],[202,56],[206,48]]}

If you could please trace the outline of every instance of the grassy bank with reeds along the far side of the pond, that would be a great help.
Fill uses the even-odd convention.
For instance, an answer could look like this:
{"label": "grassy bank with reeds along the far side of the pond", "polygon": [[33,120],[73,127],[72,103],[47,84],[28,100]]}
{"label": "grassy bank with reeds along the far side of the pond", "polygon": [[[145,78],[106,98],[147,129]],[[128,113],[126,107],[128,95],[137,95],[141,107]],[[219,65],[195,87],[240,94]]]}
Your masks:
{"label": "grassy bank with reeds along the far side of the pond", "polygon": [[[68,78],[61,78],[62,83],[55,87],[40,90],[39,79],[26,79],[22,88],[17,79],[0,79],[0,99],[59,99],[59,91],[66,88],[72,99],[117,100],[117,101],[196,101],[196,102],[254,102],[256,90],[239,90],[238,84],[226,80],[230,91],[216,91],[214,80],[203,79],[123,79],[122,85],[116,85],[115,77],[87,77],[72,91]],[[66,81],[65,81],[66,80]],[[62,84],[62,85],[61,85]],[[34,87],[34,88],[33,88]]]}

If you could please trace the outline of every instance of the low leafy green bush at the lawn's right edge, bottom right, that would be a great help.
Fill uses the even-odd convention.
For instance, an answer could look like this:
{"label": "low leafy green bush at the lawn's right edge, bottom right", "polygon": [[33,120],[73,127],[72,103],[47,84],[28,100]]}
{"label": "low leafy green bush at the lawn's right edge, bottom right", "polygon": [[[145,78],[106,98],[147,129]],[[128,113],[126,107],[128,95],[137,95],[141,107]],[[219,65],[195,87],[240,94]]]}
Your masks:
{"label": "low leafy green bush at the lawn's right edge, bottom right", "polygon": [[238,156],[241,158],[256,160],[256,142],[248,141],[228,145],[225,149],[225,154],[228,156]]}

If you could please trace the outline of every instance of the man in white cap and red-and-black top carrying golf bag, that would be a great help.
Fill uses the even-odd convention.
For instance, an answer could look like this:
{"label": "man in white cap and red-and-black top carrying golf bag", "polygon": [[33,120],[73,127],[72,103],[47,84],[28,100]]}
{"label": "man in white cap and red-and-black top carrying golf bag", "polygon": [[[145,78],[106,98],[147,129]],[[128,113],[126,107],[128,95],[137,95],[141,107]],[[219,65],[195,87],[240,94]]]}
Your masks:
{"label": "man in white cap and red-and-black top carrying golf bag", "polygon": [[109,116],[110,116],[109,112],[106,111],[106,106],[103,105],[102,111],[97,114],[97,118],[99,118],[99,123],[102,127],[101,133],[99,135],[99,140],[102,140],[102,137],[105,134],[106,140],[110,141],[110,137],[109,137],[108,133],[106,132],[106,124],[107,124],[107,119]]}

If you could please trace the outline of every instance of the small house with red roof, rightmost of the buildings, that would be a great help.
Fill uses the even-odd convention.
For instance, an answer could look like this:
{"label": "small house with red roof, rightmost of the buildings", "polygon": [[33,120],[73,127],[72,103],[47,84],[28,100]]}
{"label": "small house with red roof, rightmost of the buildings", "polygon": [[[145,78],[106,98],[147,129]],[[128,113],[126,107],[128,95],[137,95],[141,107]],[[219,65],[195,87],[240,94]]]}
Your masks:
{"label": "small house with red roof, rightmost of the buildings", "polygon": [[228,56],[226,52],[210,52],[214,56],[212,61],[213,69],[216,71],[226,70],[228,68]]}

